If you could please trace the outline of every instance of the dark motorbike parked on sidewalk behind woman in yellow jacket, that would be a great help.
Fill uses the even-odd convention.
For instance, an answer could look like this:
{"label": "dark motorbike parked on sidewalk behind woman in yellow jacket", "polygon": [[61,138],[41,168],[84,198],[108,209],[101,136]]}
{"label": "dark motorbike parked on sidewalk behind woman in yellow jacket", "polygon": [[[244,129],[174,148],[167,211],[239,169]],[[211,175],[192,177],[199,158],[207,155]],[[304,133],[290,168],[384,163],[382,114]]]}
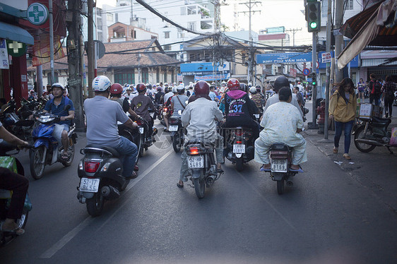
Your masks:
{"label": "dark motorbike parked on sidewalk behind woman in yellow jacket", "polygon": [[391,129],[389,124],[391,119],[382,119],[376,116],[368,120],[359,120],[352,127],[352,135],[357,150],[361,152],[370,152],[376,147],[386,147],[391,154],[390,149]]}

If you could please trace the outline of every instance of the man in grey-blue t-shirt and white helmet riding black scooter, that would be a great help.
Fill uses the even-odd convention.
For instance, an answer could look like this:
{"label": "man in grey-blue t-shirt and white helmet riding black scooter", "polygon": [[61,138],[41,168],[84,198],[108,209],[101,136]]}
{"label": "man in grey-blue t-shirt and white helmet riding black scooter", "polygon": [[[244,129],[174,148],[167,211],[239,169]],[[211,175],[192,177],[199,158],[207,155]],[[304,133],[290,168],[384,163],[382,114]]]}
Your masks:
{"label": "man in grey-blue t-shirt and white helmet riding black scooter", "polygon": [[124,155],[122,176],[126,179],[135,179],[138,176],[134,172],[138,150],[130,140],[119,136],[117,121],[131,129],[137,128],[138,125],[129,119],[119,103],[107,99],[110,85],[110,80],[106,76],[95,77],[93,80],[95,97],[84,101],[87,143],[114,148]]}

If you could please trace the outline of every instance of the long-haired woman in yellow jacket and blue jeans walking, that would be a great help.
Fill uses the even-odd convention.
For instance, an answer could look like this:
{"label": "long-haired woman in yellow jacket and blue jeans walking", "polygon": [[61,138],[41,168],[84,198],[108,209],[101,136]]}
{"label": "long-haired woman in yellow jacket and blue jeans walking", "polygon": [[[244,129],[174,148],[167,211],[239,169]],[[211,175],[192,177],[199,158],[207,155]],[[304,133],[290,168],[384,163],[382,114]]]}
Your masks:
{"label": "long-haired woman in yellow jacket and blue jeans walking", "polygon": [[340,83],[335,83],[336,91],[329,102],[329,118],[335,120],[335,137],[333,138],[333,153],[338,153],[339,140],[345,126],[345,152],[343,157],[350,160],[350,136],[355,121],[357,98],[354,92],[352,79],[344,78]]}

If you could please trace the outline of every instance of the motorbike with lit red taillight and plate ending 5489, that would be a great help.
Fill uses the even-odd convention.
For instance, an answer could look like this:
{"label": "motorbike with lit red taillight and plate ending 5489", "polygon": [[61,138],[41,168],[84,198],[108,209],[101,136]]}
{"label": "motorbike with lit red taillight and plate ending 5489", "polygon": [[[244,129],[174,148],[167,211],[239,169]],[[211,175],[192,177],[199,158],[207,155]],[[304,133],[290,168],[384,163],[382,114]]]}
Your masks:
{"label": "motorbike with lit red taillight and plate ending 5489", "polygon": [[209,188],[221,175],[216,169],[214,145],[194,139],[189,140],[185,148],[194,191],[199,199],[204,198],[206,186]]}

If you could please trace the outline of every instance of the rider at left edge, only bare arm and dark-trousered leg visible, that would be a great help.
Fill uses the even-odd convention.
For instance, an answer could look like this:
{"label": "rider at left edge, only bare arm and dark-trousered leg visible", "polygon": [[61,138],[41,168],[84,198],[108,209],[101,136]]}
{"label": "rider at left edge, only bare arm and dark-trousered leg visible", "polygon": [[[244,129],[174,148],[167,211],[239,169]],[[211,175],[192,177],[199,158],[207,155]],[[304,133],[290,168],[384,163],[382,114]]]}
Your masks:
{"label": "rider at left edge, only bare arm and dark-trousered leg visible", "polygon": [[[8,132],[1,122],[0,138],[4,139],[7,143],[18,145],[18,148],[28,145],[28,142],[20,140]],[[6,221],[1,225],[1,231],[17,235],[25,233],[25,230],[18,228],[16,220],[20,219],[22,216],[23,205],[25,204],[25,196],[26,193],[28,193],[28,187],[29,181],[24,176],[11,172],[10,169],[0,167],[0,188],[13,191],[11,203],[6,215]]]}

